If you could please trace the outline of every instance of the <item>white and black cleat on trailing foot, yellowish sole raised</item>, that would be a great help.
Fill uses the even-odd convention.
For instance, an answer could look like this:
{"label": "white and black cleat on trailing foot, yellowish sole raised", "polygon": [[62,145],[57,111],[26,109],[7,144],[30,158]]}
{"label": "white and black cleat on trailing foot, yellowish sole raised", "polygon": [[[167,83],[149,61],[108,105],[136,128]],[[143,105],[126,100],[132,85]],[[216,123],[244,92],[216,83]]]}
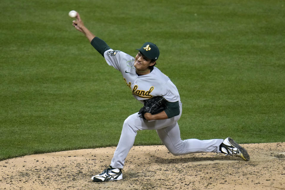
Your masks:
{"label": "white and black cleat on trailing foot, yellowish sole raised", "polygon": [[249,161],[249,155],[242,146],[236,143],[232,138],[226,138],[221,144],[221,152],[226,155],[236,156]]}

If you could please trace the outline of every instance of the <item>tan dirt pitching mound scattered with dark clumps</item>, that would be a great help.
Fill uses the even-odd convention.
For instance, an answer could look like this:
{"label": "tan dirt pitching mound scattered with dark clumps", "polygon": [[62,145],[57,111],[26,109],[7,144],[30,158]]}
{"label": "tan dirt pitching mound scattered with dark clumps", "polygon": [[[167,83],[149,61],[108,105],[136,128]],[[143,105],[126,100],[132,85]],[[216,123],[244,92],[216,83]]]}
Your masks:
{"label": "tan dirt pitching mound scattered with dark clumps", "polygon": [[249,162],[220,153],[173,156],[134,146],[123,179],[93,182],[115,147],[36,154],[0,162],[0,189],[285,189],[285,143],[243,144]]}

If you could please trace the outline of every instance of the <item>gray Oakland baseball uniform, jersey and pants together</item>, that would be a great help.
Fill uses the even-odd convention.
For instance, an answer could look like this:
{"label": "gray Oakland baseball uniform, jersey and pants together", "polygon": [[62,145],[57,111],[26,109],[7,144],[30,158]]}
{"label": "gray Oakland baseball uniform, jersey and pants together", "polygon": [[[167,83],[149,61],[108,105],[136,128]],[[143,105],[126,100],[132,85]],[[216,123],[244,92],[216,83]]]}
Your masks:
{"label": "gray Oakland baseball uniform, jersey and pants together", "polygon": [[135,99],[143,102],[154,96],[163,96],[168,102],[179,102],[179,115],[163,120],[147,121],[141,115],[130,115],[123,124],[121,137],[111,161],[113,168],[123,168],[124,161],[129,150],[134,144],[137,131],[156,130],[162,143],[173,155],[183,155],[201,152],[219,152],[219,146],[223,139],[181,140],[177,121],[182,114],[182,103],[176,86],[169,77],[164,75],[158,68],[147,75],[137,75],[134,68],[134,58],[122,51],[109,49],[104,53],[107,64],[121,72],[124,82],[130,88]]}

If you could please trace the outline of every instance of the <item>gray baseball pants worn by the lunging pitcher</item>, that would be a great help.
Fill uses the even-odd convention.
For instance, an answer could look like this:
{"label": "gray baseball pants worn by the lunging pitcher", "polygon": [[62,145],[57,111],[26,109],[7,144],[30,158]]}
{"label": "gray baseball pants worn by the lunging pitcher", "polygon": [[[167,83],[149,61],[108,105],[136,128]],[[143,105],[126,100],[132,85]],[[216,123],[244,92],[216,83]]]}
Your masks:
{"label": "gray baseball pants worn by the lunging pitcher", "polygon": [[202,152],[219,153],[219,146],[224,141],[223,139],[181,140],[180,130],[177,123],[182,114],[182,103],[180,101],[179,105],[180,114],[169,119],[147,121],[137,113],[126,118],[118,146],[110,165],[113,168],[123,169],[125,159],[134,145],[134,140],[137,135],[137,131],[139,130],[155,129],[162,143],[166,146],[168,151],[175,156]]}

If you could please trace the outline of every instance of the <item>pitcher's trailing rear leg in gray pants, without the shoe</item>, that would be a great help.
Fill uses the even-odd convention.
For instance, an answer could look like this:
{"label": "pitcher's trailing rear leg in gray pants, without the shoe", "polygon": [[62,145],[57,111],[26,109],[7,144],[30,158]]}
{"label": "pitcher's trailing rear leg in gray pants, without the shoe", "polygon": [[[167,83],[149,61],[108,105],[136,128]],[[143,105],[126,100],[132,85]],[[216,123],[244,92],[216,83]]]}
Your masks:
{"label": "pitcher's trailing rear leg in gray pants, without the shoe", "polygon": [[178,123],[171,126],[156,130],[162,143],[173,155],[183,155],[189,153],[217,152],[223,139],[198,140],[187,139],[181,140]]}

